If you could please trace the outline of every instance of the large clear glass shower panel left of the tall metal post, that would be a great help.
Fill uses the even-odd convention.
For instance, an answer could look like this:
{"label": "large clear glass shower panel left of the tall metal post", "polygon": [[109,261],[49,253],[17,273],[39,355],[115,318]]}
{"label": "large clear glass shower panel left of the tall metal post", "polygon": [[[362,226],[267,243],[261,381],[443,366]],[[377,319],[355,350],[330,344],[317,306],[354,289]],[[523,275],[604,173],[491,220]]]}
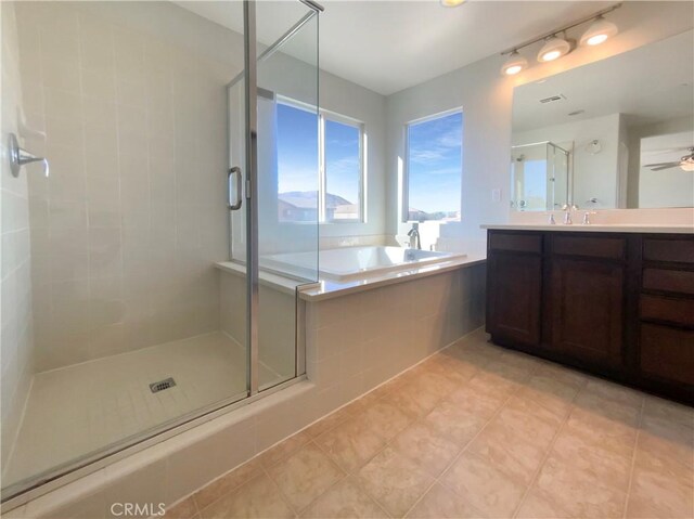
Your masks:
{"label": "large clear glass shower panel left of the tall metal post", "polygon": [[0,169],[3,499],[247,395],[216,265],[243,35],[202,3],[0,3],[2,146],[50,164]]}

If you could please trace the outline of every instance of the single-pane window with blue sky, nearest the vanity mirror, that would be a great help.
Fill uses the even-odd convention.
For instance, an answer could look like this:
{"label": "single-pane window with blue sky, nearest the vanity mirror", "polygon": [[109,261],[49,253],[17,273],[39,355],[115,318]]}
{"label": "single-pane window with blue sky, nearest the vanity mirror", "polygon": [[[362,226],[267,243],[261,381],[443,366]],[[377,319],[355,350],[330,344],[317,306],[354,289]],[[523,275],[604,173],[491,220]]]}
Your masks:
{"label": "single-pane window with blue sky, nearest the vanity mirror", "polygon": [[407,126],[404,221],[460,221],[463,114],[449,113]]}

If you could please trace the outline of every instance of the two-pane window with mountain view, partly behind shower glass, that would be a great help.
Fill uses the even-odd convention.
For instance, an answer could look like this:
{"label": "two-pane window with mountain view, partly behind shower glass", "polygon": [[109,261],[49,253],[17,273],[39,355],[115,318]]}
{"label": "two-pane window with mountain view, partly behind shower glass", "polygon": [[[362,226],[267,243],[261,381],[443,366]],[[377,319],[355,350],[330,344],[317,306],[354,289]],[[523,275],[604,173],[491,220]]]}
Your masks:
{"label": "two-pane window with mountain view, partly behind shower glass", "polygon": [[363,221],[363,125],[291,101],[277,114],[279,221]]}

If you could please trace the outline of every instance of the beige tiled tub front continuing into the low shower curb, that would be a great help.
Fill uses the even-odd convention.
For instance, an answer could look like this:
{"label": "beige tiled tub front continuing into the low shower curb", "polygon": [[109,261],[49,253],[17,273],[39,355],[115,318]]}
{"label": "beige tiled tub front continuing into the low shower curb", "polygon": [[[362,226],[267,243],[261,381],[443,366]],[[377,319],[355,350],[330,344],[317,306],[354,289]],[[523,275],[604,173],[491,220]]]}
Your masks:
{"label": "beige tiled tub front continuing into the low shower curb", "polygon": [[101,518],[113,496],[169,504],[181,499],[478,328],[484,277],[485,265],[473,263],[422,280],[307,300],[307,380],[221,413],[38,497],[15,514],[37,519],[79,510]]}

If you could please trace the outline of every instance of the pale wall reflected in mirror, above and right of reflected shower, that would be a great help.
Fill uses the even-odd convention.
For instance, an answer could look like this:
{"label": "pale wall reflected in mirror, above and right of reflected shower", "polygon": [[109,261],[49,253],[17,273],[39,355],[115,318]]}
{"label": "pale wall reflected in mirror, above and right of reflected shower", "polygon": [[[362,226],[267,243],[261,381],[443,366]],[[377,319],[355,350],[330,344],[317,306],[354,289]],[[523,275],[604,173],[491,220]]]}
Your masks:
{"label": "pale wall reflected in mirror, above and right of reflected shower", "polygon": [[[570,143],[574,203],[586,208],[614,208],[617,207],[619,127],[620,114],[612,114],[514,133],[511,142],[516,145],[552,141],[562,147]],[[600,141],[597,154],[586,150],[593,140]],[[591,198],[597,203],[589,203]]]}

